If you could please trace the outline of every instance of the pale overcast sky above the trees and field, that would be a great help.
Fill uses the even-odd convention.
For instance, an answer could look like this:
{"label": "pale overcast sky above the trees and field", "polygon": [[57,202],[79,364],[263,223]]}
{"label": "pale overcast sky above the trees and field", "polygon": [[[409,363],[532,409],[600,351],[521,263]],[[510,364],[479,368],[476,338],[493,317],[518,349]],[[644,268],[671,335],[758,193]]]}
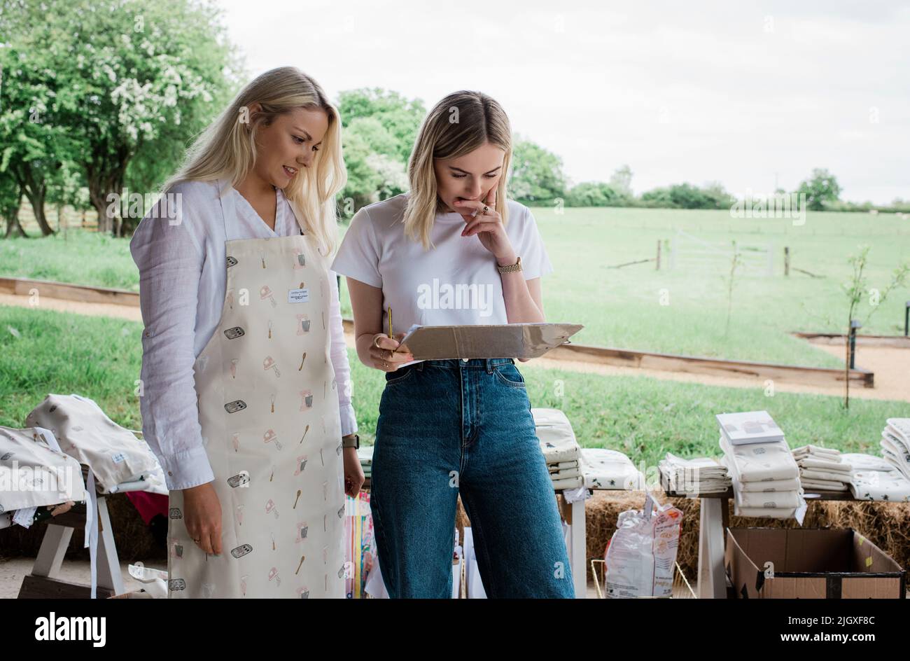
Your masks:
{"label": "pale overcast sky above the trees and field", "polygon": [[298,66],[431,107],[495,97],[573,182],[628,163],[632,188],[718,180],[910,198],[910,7],[899,2],[220,0],[250,75]]}

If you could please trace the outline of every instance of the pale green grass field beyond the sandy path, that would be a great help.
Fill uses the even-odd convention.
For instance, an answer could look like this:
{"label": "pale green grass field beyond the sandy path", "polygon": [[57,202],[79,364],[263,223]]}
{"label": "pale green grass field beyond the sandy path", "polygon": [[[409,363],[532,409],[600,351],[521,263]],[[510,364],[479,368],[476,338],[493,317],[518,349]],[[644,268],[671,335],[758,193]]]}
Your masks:
{"label": "pale green grass field beyond the sandy path", "polygon": [[[850,273],[847,258],[861,244],[872,247],[870,288],[883,290],[901,259],[910,260],[910,220],[890,215],[810,212],[803,226],[794,227],[790,219],[732,219],[727,211],[533,212],[555,269],[543,281],[547,317],[584,324],[575,341],[598,346],[839,367],[833,356],[794,339],[790,332],[844,331],[847,312],[841,284]],[[669,269],[671,256],[666,251],[661,270],[652,262],[609,268],[653,258],[658,241],[679,239],[678,232],[688,237],[682,239],[687,248],[677,252],[675,269]],[[712,244],[713,252],[695,252],[692,247],[698,240]],[[732,240],[751,264],[760,266],[734,278],[727,331],[726,275]],[[784,246],[790,248],[793,267],[786,278]],[[766,274],[764,253],[756,248],[770,250],[772,275]],[[138,290],[128,240],[79,229],[66,237],[0,240],[0,275]],[[342,310],[350,316],[345,287],[341,296]],[[910,288],[895,290],[863,332],[903,332],[906,300]],[[870,310],[866,299],[858,316],[863,319]]]}

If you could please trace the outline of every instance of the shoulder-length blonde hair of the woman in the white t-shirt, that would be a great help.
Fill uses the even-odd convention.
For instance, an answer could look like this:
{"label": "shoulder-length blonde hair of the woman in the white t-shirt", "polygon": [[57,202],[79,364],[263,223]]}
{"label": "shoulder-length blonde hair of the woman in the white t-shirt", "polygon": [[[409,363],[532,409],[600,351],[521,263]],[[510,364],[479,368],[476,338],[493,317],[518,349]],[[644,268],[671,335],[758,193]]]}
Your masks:
{"label": "shoulder-length blonde hair of the woman in the white t-shirt", "polygon": [[459,158],[487,142],[506,153],[496,188],[496,210],[503,224],[508,222],[506,184],[512,150],[509,117],[492,97],[462,90],[443,98],[420,125],[408,163],[410,196],[403,218],[405,236],[419,240],[424,249],[429,249],[433,220],[446,208],[437,195],[433,159]]}

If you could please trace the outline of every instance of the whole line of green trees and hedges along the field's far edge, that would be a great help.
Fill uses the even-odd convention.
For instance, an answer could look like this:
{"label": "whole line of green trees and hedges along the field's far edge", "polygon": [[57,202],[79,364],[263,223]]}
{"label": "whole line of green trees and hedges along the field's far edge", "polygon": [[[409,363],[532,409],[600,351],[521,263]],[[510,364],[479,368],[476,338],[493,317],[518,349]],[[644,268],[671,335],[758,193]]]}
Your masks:
{"label": "whole line of green trees and hedges along the field's far edge", "polygon": [[[129,236],[145,209],[110,213],[112,196],[156,191],[244,79],[219,12],[202,0],[0,0],[5,235],[25,234],[18,220],[25,198],[45,235],[54,232],[46,208],[66,205],[94,208],[99,231]],[[406,191],[423,102],[362,88],[341,92],[337,106],[349,177],[341,198],[353,202],[344,208]],[[809,208],[865,210],[841,202],[825,170],[814,171],[800,191]],[[572,184],[559,156],[521,136],[510,194],[537,206],[729,208],[734,201],[719,183],[636,196],[629,166],[609,181]],[[895,205],[910,210],[910,203]]]}

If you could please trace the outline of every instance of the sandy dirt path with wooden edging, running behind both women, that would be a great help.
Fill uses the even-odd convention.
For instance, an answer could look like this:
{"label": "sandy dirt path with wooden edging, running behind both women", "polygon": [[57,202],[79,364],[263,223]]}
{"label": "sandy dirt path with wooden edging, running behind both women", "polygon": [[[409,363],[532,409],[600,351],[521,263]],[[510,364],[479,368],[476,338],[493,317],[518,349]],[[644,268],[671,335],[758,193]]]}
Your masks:
{"label": "sandy dirt path with wooden edging, running behind both women", "polygon": [[[26,308],[32,307],[29,305],[29,299],[26,296],[15,296],[13,294],[3,293],[0,293],[0,305],[17,305]],[[40,307],[46,310],[76,312],[77,314],[88,314],[93,316],[103,315],[117,317],[119,319],[142,321],[139,309],[126,305],[85,303],[74,300],[42,297]],[[354,347],[354,337],[352,334],[345,333],[345,340],[348,342],[349,347]],[[844,353],[843,348],[838,346],[824,344],[818,344],[816,346],[823,351],[828,351],[838,358],[843,356]],[[708,374],[690,374],[688,372],[680,371],[644,370],[632,367],[597,365],[582,361],[556,361],[548,358],[538,358],[531,361],[530,364],[552,370],[579,371],[591,374],[602,374],[604,376],[643,376],[665,381],[685,381],[689,383],[703,383],[705,385],[730,388],[764,390],[764,379],[750,379],[747,377],[722,377]],[[875,372],[875,388],[851,387],[851,397],[856,399],[910,402],[910,376],[908,376],[910,375],[910,349],[860,346],[856,349],[856,364],[866,370]],[[839,385],[826,387],[777,381],[774,383],[774,389],[776,392],[808,392],[832,395],[834,397],[844,396],[844,388]]]}

